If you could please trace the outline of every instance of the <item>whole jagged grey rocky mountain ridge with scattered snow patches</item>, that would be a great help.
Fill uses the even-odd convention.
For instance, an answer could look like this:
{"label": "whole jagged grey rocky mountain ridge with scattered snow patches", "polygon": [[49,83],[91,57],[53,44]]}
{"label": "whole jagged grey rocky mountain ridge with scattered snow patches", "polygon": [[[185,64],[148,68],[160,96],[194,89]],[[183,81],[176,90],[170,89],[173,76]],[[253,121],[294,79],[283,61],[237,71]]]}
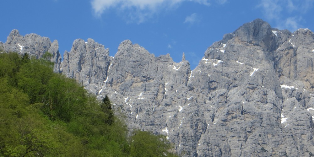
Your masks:
{"label": "whole jagged grey rocky mountain ridge with scattered snow patches", "polygon": [[57,41],[46,37],[13,30],[0,46],[50,52],[55,72],[100,99],[108,95],[130,130],[164,134],[182,156],[314,154],[311,30],[291,33],[256,19],[208,47],[192,71],[184,54],[177,63],[129,40],[115,57],[92,39],[75,40],[62,63]]}

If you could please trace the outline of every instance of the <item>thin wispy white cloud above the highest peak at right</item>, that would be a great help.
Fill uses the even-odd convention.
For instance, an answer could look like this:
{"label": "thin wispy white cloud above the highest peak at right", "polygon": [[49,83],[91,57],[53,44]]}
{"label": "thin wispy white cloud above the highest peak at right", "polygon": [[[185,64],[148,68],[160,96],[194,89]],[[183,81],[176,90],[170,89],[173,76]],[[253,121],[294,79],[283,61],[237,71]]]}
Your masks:
{"label": "thin wispy white cloud above the highest peak at right", "polygon": [[311,11],[314,0],[260,0],[264,18],[277,25],[279,29],[295,31],[302,27],[302,14]]}

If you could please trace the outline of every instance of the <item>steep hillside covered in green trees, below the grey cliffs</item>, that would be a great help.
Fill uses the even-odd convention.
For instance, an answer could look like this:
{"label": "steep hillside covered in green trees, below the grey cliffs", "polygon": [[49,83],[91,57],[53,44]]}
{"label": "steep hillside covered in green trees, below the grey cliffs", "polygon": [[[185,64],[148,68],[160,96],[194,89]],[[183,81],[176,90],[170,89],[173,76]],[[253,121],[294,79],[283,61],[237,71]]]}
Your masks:
{"label": "steep hillside covered in green trees, below the grey cliffs", "polygon": [[0,54],[0,156],[176,156],[164,135],[127,130],[99,102],[42,59]]}

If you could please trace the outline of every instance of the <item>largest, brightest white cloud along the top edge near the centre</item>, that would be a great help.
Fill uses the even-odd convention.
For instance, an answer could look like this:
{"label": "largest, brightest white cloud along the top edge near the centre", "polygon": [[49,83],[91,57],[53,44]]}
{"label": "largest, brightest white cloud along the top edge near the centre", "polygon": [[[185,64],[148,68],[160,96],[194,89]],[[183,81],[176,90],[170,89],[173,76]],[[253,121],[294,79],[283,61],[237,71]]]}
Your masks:
{"label": "largest, brightest white cloud along the top edge near the centre", "polygon": [[[176,8],[184,1],[191,1],[209,6],[210,0],[91,0],[91,5],[96,16],[100,17],[110,8],[117,9],[126,15],[130,21],[142,23],[161,10]],[[226,0],[218,0],[223,2]]]}

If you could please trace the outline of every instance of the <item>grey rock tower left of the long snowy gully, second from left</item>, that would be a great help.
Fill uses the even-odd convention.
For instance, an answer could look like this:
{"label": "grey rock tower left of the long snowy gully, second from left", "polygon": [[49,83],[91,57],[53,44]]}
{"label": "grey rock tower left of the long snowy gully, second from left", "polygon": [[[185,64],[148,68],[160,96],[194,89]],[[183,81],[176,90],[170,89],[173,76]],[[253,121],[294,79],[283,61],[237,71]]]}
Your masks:
{"label": "grey rock tower left of the long snowy gully, second from left", "polygon": [[98,95],[107,77],[112,58],[109,50],[93,39],[77,39],[70,52],[65,51],[61,72],[82,83],[90,93]]}

